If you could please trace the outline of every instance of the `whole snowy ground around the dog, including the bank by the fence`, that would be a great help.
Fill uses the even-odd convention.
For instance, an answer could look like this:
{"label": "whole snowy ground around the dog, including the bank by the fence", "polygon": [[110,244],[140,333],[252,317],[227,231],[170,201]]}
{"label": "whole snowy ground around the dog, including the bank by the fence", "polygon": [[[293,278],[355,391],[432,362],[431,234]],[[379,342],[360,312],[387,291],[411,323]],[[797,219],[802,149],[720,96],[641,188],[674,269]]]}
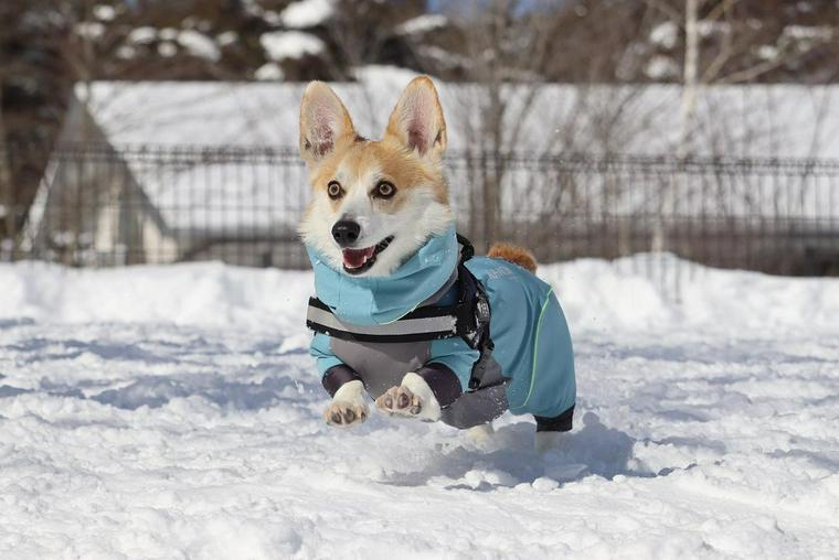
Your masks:
{"label": "whole snowy ground around the dog, including the bank by the fence", "polygon": [[0,266],[0,557],[837,558],[839,281],[546,267],[576,427],[339,431],[310,277]]}

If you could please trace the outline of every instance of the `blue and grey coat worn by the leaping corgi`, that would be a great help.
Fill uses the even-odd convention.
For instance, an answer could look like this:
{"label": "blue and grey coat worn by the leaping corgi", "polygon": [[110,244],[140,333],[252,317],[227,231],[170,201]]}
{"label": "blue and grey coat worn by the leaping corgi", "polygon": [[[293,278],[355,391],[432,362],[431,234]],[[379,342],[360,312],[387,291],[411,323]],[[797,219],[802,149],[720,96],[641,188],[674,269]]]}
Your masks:
{"label": "blue and grey coat worn by the leaping corgi", "polygon": [[[389,277],[352,277],[332,269],[310,247],[307,250],[318,299],[344,323],[390,324],[417,308],[457,302],[459,248],[454,227],[433,236]],[[484,423],[507,408],[514,414],[544,419],[566,413],[570,422],[576,398],[574,357],[567,323],[551,286],[501,259],[474,257],[466,268],[484,287],[491,309],[495,374],[480,388],[468,389],[479,352],[459,336],[389,344],[318,333],[310,353],[325,387],[329,388],[331,374],[342,370],[336,376],[342,383],[359,378],[378,398],[399,386],[406,373],[436,367],[450,370],[459,381],[459,395],[444,399],[450,402],[440,400],[443,420],[453,426]],[[331,385],[334,390],[340,386]]]}

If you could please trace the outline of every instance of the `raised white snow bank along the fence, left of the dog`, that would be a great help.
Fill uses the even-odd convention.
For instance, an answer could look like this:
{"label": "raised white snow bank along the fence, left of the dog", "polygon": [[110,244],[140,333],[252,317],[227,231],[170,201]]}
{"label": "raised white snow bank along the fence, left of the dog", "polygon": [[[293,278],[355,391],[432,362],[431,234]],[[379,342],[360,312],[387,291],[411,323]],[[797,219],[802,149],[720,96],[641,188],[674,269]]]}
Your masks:
{"label": "raised white snow bank along the fence, left of the dog", "polygon": [[221,263],[94,270],[22,262],[0,265],[0,317],[300,327],[311,287],[307,272]]}

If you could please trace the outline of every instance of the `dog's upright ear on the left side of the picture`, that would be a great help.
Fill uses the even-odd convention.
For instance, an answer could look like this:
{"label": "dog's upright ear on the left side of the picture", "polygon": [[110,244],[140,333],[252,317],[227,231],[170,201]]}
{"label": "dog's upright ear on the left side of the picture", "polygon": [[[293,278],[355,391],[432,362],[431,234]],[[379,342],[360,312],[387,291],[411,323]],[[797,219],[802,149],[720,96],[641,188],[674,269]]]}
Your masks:
{"label": "dog's upright ear on the left side of the picture", "polygon": [[300,104],[300,155],[312,165],[341,142],[351,142],[355,129],[347,108],[332,88],[311,82]]}

